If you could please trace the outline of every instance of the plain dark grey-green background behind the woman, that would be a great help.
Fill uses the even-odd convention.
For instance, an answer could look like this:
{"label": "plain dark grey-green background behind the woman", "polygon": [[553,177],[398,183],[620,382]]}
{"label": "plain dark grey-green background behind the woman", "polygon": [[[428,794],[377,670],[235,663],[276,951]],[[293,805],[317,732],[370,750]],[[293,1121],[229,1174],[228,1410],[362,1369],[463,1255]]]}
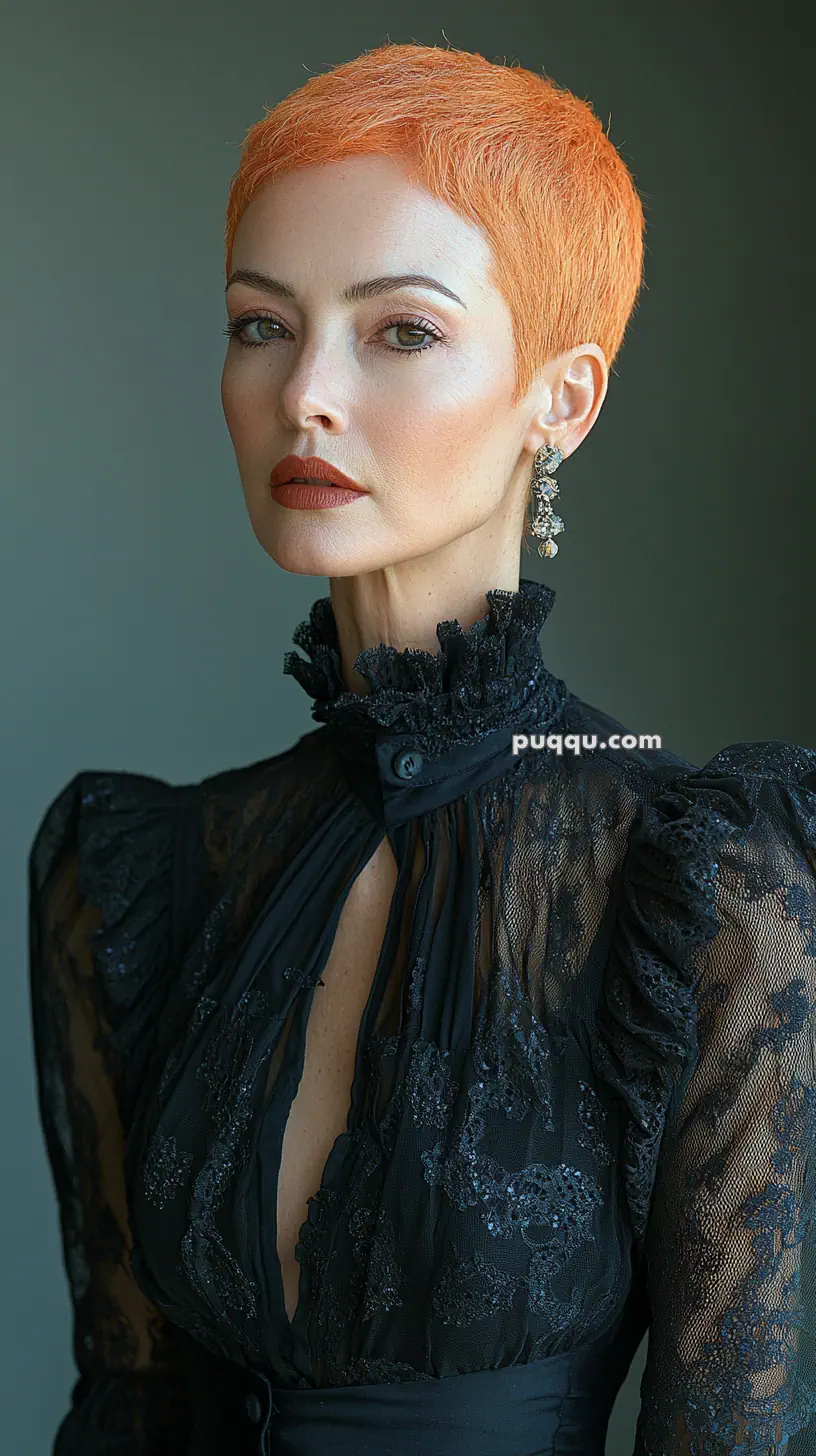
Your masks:
{"label": "plain dark grey-green background behind the woman", "polygon": [[[558,594],[545,655],[694,761],[816,745],[803,17],[711,0],[3,7],[0,1450],[48,1456],[73,1380],[28,1012],[39,815],[79,769],[191,780],[312,727],[281,660],[326,582],[256,545],[219,400],[246,127],[386,36],[517,60],[611,116],[648,287],[560,472],[560,555],[523,558]],[[608,1456],[631,1452],[644,1350]]]}

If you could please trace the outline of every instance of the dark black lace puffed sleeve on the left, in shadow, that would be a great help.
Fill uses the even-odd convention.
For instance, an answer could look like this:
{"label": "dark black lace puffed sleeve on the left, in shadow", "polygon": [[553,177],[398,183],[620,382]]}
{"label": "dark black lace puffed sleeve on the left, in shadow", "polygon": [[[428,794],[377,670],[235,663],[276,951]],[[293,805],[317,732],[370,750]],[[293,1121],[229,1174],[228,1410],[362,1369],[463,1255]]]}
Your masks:
{"label": "dark black lace puffed sleeve on the left, in shadow", "polygon": [[29,853],[39,1115],[58,1201],[79,1379],[52,1456],[184,1456],[172,1326],[130,1268],[124,1155],[168,989],[185,789],[80,773]]}

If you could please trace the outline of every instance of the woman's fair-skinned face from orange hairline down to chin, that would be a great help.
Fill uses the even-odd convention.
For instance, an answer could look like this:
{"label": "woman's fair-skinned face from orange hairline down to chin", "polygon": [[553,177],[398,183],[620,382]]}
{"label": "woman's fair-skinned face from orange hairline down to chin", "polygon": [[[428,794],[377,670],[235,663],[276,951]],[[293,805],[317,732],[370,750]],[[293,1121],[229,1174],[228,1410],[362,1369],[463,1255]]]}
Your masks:
{"label": "woman's fair-skinned face from orange hairline down to chin", "polygon": [[[252,529],[281,568],[348,577],[418,558],[440,565],[462,546],[471,561],[507,549],[517,562],[525,450],[552,437],[530,434],[546,408],[536,414],[529,397],[510,408],[513,329],[490,261],[481,230],[391,157],[306,167],[258,189],[230,277],[264,274],[291,296],[227,284],[221,403]],[[401,274],[449,293],[427,282],[344,297]],[[548,402],[545,381],[536,403]],[[321,457],[364,494],[328,510],[281,504],[270,473],[287,454]]]}

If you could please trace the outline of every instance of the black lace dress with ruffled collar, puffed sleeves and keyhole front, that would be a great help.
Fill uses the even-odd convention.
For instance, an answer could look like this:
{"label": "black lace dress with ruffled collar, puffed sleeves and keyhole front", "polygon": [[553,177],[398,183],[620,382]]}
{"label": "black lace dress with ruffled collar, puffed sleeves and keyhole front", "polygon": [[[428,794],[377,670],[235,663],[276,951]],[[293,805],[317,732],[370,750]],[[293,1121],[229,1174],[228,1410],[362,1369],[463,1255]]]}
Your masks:
{"label": "black lace dress with ruffled collar, puffed sleeves and keyhole front", "polygon": [[[50,805],[55,1456],[602,1456],[647,1329],[637,1456],[816,1450],[816,751],[613,745],[542,661],[552,598],[523,578],[437,655],[363,652],[358,696],[325,597],[284,662],[319,724],[291,748],[189,785],[89,770]],[[290,1324],[283,1131],[383,836]]]}

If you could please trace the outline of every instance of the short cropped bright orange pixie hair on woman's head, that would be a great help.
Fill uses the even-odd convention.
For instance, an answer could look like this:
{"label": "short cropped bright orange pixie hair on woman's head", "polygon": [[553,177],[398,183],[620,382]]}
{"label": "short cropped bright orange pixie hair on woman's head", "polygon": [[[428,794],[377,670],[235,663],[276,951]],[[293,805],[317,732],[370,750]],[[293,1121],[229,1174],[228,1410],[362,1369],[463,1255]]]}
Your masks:
{"label": "short cropped bright orange pixie hair on woman's head", "polygon": [[386,44],[290,92],[246,132],[226,271],[255,191],[299,167],[388,154],[491,246],[513,322],[513,403],[542,365],[595,342],[612,365],[643,278],[643,207],[592,106],[482,55]]}

